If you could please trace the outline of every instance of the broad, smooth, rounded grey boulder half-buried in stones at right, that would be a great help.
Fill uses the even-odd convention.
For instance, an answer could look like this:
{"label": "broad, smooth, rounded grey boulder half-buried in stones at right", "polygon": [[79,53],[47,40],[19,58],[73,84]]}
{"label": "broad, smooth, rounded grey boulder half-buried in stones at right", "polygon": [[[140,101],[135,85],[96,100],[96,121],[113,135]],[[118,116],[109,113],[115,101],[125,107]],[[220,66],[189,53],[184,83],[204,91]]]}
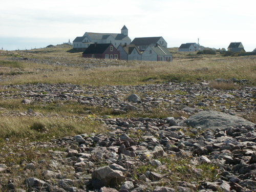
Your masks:
{"label": "broad, smooth, rounded grey boulder half-buried in stones at right", "polygon": [[196,115],[189,117],[184,121],[188,126],[197,127],[202,129],[226,129],[227,127],[236,127],[237,125],[253,126],[254,124],[242,117],[229,115],[217,111],[203,111]]}

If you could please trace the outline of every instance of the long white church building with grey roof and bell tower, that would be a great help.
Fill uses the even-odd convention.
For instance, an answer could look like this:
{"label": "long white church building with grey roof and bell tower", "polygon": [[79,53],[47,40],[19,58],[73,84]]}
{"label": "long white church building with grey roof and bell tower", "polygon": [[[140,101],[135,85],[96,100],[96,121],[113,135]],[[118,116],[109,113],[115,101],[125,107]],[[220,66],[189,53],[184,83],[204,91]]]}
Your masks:
{"label": "long white church building with grey roof and bell tower", "polygon": [[86,32],[81,37],[76,37],[73,40],[73,49],[85,50],[91,44],[113,44],[117,48],[121,44],[129,45],[131,39],[128,36],[128,29],[125,25],[121,29],[121,33],[93,33]]}

